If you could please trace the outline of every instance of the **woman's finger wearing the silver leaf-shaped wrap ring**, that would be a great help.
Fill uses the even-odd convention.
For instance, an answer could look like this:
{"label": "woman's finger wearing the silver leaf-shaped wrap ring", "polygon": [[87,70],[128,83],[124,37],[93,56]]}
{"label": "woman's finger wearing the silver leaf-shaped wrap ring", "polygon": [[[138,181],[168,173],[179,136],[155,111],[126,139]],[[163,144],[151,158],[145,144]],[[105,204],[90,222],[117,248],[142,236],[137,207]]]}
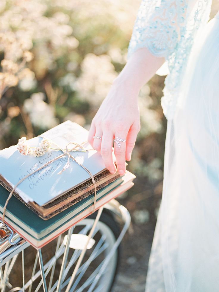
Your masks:
{"label": "woman's finger wearing the silver leaf-shaped wrap ring", "polygon": [[123,141],[126,140],[126,136],[125,131],[115,132],[114,153],[120,175],[126,172],[126,141]]}

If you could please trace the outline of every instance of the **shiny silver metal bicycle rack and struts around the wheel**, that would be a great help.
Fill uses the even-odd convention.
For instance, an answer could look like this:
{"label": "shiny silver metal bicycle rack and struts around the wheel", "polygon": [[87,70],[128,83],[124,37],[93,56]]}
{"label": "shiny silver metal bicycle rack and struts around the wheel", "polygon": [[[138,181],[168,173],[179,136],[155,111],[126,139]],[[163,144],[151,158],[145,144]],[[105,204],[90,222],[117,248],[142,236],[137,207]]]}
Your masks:
{"label": "shiny silver metal bicycle rack and struts around the wheel", "polygon": [[[108,202],[107,204],[105,204],[103,207],[101,207],[98,210],[96,219],[94,221],[94,224],[93,224],[93,226],[92,226],[92,228],[91,228],[91,230],[89,232],[89,236],[88,236],[89,238],[92,237],[93,230],[96,227],[96,224],[98,222],[98,219],[99,219],[99,217],[101,215],[101,212],[102,212],[103,208],[109,210],[113,217],[117,217],[118,216],[120,218],[120,221],[123,223],[123,227],[121,229],[121,233],[119,234],[118,238],[116,239],[115,243],[113,244],[110,252],[108,253],[108,255],[105,257],[104,261],[102,262],[102,266],[101,266],[100,270],[98,271],[97,275],[95,276],[95,278],[93,279],[92,284],[91,284],[88,292],[92,292],[93,289],[95,288],[96,283],[100,279],[101,275],[104,273],[104,270],[106,269],[108,263],[110,262],[110,259],[112,258],[113,254],[115,253],[115,251],[118,248],[119,244],[121,243],[121,241],[123,239],[123,236],[125,235],[126,231],[128,230],[130,222],[131,222],[131,217],[130,217],[130,214],[129,214],[128,210],[124,206],[120,205],[118,203],[118,201],[116,201],[115,199],[112,199],[110,202]],[[65,274],[65,271],[66,271],[66,260],[67,260],[67,257],[68,257],[69,244],[70,244],[70,239],[71,239],[71,234],[72,234],[73,228],[74,228],[74,226],[72,226],[72,227],[70,227],[68,229],[68,238],[67,238],[67,241],[66,241],[66,244],[65,244],[65,250],[64,250],[64,255],[63,255],[63,259],[62,259],[62,266],[61,266],[60,276],[59,276],[59,279],[58,279],[58,284],[57,284],[57,289],[56,289],[57,292],[60,292],[61,288],[62,288],[63,275]],[[10,247],[8,247],[7,250],[3,251],[0,254],[1,292],[4,292],[4,279],[6,279],[6,276],[3,275],[3,273],[2,273],[2,266],[4,264],[6,264],[10,259],[15,257],[21,251],[22,251],[22,259],[23,259],[23,251],[26,249],[26,247],[28,247],[30,245],[24,239],[15,238],[15,236],[16,236],[16,234],[13,233],[13,230],[10,230],[10,235],[8,235],[8,241],[4,242],[4,244],[8,243],[10,245]],[[16,240],[16,244],[12,241],[12,239]],[[17,242],[17,241],[19,241],[19,242]],[[88,243],[88,241],[89,240],[87,240],[87,243]],[[77,261],[77,264],[76,264],[76,267],[75,267],[75,269],[73,271],[71,279],[68,282],[67,289],[65,290],[66,292],[70,291],[71,285],[73,284],[73,281],[75,279],[76,273],[77,273],[77,271],[78,271],[78,269],[80,267],[80,264],[82,262],[82,259],[83,259],[83,256],[84,256],[86,250],[87,249],[86,249],[86,245],[85,245],[85,247],[83,248],[83,250],[82,250],[82,252],[81,252],[81,254],[79,256],[79,259]],[[55,254],[51,258],[49,263],[47,263],[46,265],[43,265],[41,249],[37,250],[37,256],[38,256],[38,260],[39,260],[39,263],[40,263],[40,271],[38,271],[37,273],[41,274],[43,291],[47,292],[48,290],[47,290],[47,287],[46,287],[45,271],[48,268],[48,265],[52,266],[53,262],[56,261],[57,255]],[[31,285],[31,283],[30,283],[30,285]],[[51,288],[51,287],[49,287],[49,288]],[[25,287],[25,289],[26,289],[26,287]],[[49,291],[50,291],[50,289],[49,289]]]}

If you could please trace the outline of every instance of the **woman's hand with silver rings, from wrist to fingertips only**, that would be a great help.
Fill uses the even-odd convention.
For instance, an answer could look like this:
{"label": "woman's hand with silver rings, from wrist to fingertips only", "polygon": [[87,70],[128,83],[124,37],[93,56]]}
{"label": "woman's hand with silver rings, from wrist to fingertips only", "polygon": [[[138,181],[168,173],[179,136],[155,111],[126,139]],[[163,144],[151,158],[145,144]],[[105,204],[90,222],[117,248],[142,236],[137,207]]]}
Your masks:
{"label": "woman's hand with silver rings, from wrist to fingertips only", "polygon": [[[114,154],[119,174],[126,171],[125,160],[131,159],[136,137],[140,131],[138,90],[117,78],[94,116],[88,135],[88,142],[101,153],[106,168],[116,172],[112,158],[113,139],[119,137],[126,142],[114,143]],[[100,136],[102,139],[93,138]]]}

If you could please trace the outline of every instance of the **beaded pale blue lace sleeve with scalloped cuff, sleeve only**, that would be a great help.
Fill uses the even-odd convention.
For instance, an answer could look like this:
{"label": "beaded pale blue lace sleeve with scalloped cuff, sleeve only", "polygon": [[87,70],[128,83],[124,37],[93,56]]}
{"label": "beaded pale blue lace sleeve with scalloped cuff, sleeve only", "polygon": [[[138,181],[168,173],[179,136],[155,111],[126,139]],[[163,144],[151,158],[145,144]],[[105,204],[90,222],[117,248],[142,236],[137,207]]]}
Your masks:
{"label": "beaded pale blue lace sleeve with scalloped cuff, sleeve only", "polygon": [[146,47],[157,57],[173,53],[184,37],[188,0],[142,0],[129,42],[128,56]]}

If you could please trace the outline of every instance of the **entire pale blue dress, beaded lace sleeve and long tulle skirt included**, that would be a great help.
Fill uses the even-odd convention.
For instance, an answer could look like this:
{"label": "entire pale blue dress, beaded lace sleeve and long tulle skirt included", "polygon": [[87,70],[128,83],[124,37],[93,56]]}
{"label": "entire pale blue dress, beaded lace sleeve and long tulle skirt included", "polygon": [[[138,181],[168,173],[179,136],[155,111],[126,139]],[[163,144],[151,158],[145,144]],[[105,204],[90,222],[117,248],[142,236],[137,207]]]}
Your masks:
{"label": "entire pale blue dress, beaded lace sleeve and long tulle skirt included", "polygon": [[219,12],[208,22],[211,1],[155,2],[142,1],[128,55],[147,47],[170,71],[162,201],[145,292],[218,292]]}

